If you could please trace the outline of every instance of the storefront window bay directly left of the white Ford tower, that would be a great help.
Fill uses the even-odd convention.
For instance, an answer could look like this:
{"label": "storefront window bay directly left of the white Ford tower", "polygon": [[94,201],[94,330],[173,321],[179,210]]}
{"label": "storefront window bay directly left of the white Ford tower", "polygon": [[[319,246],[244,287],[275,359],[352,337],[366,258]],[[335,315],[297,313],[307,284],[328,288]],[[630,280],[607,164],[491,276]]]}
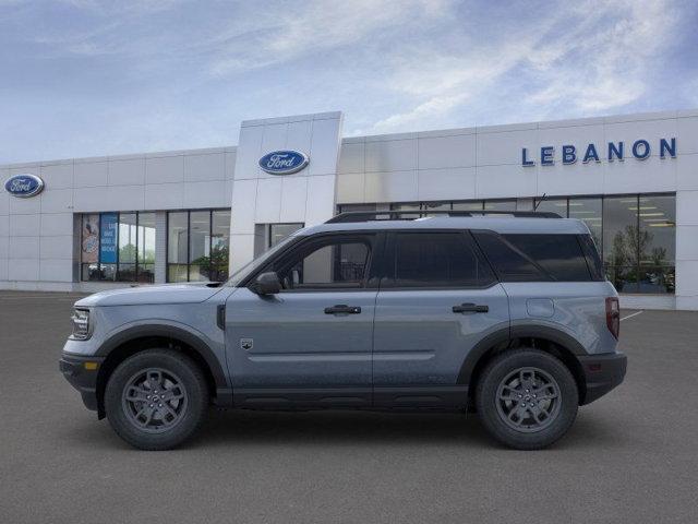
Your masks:
{"label": "storefront window bay directly left of the white Ford tower", "polygon": [[229,210],[169,212],[167,240],[167,282],[228,278]]}

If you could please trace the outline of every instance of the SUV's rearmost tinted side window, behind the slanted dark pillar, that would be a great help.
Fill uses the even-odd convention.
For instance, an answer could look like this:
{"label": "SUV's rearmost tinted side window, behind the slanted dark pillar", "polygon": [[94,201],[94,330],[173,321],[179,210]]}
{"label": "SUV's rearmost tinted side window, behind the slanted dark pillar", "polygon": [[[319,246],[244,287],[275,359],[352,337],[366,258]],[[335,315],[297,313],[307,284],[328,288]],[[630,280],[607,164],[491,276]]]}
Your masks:
{"label": "SUV's rearmost tinted side window, behind the slanted dark pillar", "polygon": [[576,235],[505,235],[514,247],[561,282],[590,281],[587,259]]}

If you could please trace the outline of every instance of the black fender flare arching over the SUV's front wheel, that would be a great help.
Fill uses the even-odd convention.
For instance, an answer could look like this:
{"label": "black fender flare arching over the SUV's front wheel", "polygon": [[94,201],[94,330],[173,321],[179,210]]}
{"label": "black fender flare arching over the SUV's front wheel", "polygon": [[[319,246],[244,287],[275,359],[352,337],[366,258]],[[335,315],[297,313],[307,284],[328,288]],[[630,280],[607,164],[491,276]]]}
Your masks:
{"label": "black fender flare arching over the SUV's front wheel", "polygon": [[99,346],[96,356],[107,357],[113,349],[130,341],[149,336],[173,338],[183,342],[184,344],[193,348],[194,352],[196,352],[204,359],[204,361],[208,366],[208,369],[210,370],[210,374],[214,378],[216,390],[220,391],[230,389],[222,366],[208,344],[196,334],[176,325],[141,324],[134,325],[132,327],[127,327],[125,330],[120,331],[111,337],[107,338],[101,344],[101,346]]}

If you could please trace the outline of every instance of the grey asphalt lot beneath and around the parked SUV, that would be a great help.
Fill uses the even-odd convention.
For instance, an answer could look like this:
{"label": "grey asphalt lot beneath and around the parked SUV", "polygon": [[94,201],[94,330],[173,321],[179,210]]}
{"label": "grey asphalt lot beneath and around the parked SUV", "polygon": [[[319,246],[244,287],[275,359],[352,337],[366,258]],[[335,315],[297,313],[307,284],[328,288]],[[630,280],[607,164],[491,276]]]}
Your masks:
{"label": "grey asphalt lot beneath and around the parked SUV", "polygon": [[625,383],[547,450],[473,415],[212,410],[143,452],[58,371],[74,299],[0,291],[2,523],[698,522],[698,312],[624,320]]}

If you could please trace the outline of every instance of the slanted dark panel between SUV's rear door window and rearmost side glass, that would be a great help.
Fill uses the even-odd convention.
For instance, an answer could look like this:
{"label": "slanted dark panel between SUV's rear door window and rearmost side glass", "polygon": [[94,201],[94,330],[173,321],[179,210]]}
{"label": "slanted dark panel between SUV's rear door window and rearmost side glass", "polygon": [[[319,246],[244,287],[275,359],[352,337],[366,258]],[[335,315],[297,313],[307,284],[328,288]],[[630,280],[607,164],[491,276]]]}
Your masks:
{"label": "slanted dark panel between SUV's rear door window and rearmost side glass", "polygon": [[502,282],[542,282],[550,277],[541,273],[525,254],[518,252],[495,233],[473,233],[480,248]]}

